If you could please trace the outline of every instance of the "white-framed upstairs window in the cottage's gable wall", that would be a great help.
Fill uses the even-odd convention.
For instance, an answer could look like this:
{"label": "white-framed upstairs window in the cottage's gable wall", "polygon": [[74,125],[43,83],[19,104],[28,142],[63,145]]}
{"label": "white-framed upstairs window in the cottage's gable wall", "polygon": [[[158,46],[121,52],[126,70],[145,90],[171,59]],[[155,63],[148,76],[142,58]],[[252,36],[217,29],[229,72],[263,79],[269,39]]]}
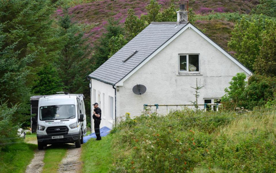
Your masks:
{"label": "white-framed upstairs window in the cottage's gable wall", "polygon": [[179,72],[199,72],[199,54],[179,54]]}

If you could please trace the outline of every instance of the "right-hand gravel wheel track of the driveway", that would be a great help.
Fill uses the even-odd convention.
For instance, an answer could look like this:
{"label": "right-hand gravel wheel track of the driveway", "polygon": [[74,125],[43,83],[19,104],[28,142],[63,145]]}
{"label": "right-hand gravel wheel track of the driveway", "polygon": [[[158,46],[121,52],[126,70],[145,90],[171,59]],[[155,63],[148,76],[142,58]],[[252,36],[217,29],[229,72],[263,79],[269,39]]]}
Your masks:
{"label": "right-hand gravel wheel track of the driveway", "polygon": [[59,173],[77,173],[81,172],[81,148],[75,148],[74,144],[68,147],[66,156],[60,163]]}

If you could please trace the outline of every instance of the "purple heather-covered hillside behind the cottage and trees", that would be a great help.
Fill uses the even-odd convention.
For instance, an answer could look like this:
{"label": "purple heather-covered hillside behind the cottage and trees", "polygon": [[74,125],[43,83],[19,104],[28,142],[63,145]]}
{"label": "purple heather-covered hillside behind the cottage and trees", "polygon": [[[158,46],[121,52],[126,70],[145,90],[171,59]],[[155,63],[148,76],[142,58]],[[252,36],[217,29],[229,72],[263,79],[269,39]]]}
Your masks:
{"label": "purple heather-covered hillside behind the cottage and trees", "polygon": [[[162,8],[168,7],[170,2],[168,0],[158,0]],[[148,4],[149,0],[101,0],[73,6],[69,9],[69,13],[73,14],[75,22],[88,25],[86,34],[92,33],[89,42],[93,43],[104,32],[103,27],[106,25],[109,15],[113,16],[116,20],[120,20],[120,24],[123,25],[127,17],[127,9],[132,8],[135,14],[140,16],[141,14],[147,14],[145,7]],[[193,8],[199,16],[212,13],[212,11],[213,13],[237,12],[248,14],[256,4],[258,4],[257,0],[189,1],[189,7]],[[61,10],[57,10],[58,14],[61,12]],[[218,42],[220,46],[227,48],[227,41],[229,41],[230,33],[234,26],[233,22],[225,20],[198,20],[195,24],[204,30],[214,41]]]}

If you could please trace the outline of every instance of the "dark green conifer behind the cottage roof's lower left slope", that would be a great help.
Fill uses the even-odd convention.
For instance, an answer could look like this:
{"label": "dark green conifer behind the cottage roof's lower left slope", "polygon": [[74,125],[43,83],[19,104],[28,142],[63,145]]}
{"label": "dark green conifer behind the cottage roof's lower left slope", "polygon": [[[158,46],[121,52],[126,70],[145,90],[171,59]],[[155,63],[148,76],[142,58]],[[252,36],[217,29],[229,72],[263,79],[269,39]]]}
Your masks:
{"label": "dark green conifer behind the cottage roof's lower left slope", "polygon": [[119,25],[119,21],[113,18],[108,18],[108,25],[105,26],[105,29],[106,33],[103,33],[93,47],[93,70],[96,70],[108,60],[108,56],[110,55],[110,38],[120,34],[124,35],[123,28]]}

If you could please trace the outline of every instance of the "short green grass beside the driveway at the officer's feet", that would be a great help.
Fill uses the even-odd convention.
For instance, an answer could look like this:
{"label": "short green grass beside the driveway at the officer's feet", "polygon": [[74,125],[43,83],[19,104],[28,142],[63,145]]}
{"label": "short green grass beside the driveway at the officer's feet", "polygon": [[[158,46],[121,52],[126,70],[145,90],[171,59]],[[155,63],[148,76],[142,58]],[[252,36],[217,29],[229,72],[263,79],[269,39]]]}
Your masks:
{"label": "short green grass beside the driveway at the officer's feet", "polygon": [[83,144],[81,161],[83,161],[83,172],[106,173],[112,164],[111,154],[112,135],[102,137],[102,140],[96,141],[90,139]]}

